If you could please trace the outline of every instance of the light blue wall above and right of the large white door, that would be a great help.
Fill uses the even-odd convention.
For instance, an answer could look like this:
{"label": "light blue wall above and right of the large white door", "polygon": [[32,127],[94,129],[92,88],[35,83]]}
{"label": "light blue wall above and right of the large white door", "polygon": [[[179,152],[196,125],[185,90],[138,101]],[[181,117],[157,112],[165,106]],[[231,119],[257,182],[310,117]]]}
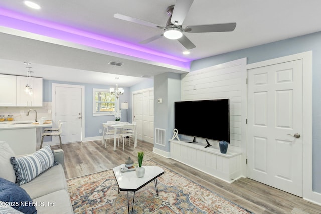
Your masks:
{"label": "light blue wall above and right of the large white door", "polygon": [[321,32],[193,61],[191,71],[247,57],[247,64],[312,51],[313,191],[321,193]]}

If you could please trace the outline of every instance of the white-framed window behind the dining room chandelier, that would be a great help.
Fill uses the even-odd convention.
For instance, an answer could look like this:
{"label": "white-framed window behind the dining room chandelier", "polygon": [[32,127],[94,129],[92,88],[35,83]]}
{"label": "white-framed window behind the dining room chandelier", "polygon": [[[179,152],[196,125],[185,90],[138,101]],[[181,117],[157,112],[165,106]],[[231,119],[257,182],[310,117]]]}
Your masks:
{"label": "white-framed window behind the dining room chandelier", "polygon": [[119,101],[108,89],[93,89],[93,116],[113,115]]}

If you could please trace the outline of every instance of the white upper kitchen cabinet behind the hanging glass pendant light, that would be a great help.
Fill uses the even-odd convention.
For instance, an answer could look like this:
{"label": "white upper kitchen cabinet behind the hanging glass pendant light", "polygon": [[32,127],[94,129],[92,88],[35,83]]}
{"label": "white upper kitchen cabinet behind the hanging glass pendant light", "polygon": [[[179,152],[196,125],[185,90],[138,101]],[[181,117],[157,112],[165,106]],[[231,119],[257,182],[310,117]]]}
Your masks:
{"label": "white upper kitchen cabinet behind the hanging glass pendant light", "polygon": [[17,76],[17,105],[16,106],[42,106],[42,78],[31,77],[28,85],[32,94],[25,92],[27,77]]}

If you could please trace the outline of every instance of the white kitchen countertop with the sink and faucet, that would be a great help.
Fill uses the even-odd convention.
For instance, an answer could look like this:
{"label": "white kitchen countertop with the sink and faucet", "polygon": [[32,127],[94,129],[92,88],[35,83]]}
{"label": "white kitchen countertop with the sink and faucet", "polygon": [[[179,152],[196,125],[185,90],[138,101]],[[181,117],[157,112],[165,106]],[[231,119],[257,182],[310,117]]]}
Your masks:
{"label": "white kitchen countertop with the sink and faucet", "polygon": [[[33,124],[34,122],[35,122],[34,120],[3,121],[3,122],[0,122],[0,130],[52,127],[51,121],[48,124]],[[19,124],[15,124],[15,123],[19,123]]]}

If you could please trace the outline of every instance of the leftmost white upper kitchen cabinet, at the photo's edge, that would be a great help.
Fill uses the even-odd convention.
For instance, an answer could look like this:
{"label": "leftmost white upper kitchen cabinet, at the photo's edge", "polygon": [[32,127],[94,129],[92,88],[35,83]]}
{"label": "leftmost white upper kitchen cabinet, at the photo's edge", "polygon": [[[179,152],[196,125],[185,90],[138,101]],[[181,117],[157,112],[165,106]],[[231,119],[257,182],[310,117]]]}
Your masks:
{"label": "leftmost white upper kitchen cabinet, at the photo's edge", "polygon": [[0,74],[0,106],[16,106],[16,76]]}

